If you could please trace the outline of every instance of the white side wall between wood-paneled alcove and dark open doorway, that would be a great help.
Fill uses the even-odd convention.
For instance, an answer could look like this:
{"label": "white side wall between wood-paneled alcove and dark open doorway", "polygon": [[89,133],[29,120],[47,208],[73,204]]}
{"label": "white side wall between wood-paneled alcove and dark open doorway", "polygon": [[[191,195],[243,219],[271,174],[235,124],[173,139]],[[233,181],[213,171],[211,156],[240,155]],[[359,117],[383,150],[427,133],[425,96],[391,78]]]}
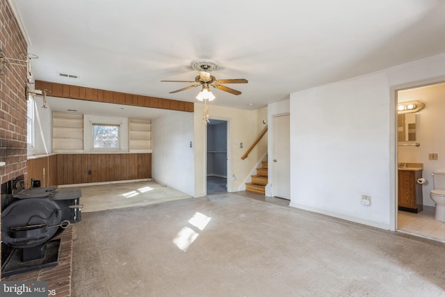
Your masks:
{"label": "white side wall between wood-paneled alcove and dark open doorway", "polygon": [[194,196],[194,146],[193,113],[172,111],[152,120],[153,179]]}

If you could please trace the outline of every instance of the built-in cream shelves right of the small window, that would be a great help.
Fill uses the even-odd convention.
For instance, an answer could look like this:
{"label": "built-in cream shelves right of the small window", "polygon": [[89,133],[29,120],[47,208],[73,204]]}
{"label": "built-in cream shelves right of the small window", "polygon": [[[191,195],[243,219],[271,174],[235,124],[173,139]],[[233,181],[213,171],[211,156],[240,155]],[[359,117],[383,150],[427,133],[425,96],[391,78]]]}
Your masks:
{"label": "built-in cream shelves right of the small window", "polygon": [[130,152],[150,152],[152,150],[152,120],[129,118]]}

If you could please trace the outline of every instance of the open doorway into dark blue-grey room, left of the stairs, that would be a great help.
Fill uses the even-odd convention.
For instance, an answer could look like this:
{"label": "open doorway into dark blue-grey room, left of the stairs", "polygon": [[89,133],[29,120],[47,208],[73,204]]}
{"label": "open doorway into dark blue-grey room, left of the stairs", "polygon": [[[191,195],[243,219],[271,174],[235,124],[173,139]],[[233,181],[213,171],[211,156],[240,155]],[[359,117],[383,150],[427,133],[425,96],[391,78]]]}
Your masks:
{"label": "open doorway into dark blue-grey room, left of the stairs", "polygon": [[227,192],[227,121],[207,123],[207,195]]}

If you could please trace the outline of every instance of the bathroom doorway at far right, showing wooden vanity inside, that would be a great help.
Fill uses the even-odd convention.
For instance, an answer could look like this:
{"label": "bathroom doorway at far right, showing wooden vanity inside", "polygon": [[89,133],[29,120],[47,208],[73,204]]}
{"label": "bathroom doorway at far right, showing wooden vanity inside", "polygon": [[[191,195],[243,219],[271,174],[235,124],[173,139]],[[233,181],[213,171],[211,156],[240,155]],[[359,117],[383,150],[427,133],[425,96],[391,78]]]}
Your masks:
{"label": "bathroom doorway at far right, showing wooden vanity inside", "polygon": [[[445,223],[434,219],[435,203],[430,198],[432,172],[445,169],[445,82],[397,90],[396,100],[398,106],[413,101],[425,104],[420,111],[406,113],[407,117],[396,111],[397,230],[445,242]],[[437,154],[437,159],[430,154]],[[420,207],[410,207],[410,199],[418,205],[420,201]]]}

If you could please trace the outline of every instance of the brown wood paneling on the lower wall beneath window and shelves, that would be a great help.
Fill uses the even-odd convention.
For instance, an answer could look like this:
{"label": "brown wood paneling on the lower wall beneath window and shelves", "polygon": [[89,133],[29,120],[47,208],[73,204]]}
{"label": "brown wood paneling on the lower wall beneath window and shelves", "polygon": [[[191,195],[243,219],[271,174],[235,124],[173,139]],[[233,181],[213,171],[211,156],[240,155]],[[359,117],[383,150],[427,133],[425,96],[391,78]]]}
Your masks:
{"label": "brown wood paneling on the lower wall beneath window and shelves", "polygon": [[152,154],[56,154],[29,159],[28,186],[31,178],[39,179],[42,186],[147,179],[152,178]]}

